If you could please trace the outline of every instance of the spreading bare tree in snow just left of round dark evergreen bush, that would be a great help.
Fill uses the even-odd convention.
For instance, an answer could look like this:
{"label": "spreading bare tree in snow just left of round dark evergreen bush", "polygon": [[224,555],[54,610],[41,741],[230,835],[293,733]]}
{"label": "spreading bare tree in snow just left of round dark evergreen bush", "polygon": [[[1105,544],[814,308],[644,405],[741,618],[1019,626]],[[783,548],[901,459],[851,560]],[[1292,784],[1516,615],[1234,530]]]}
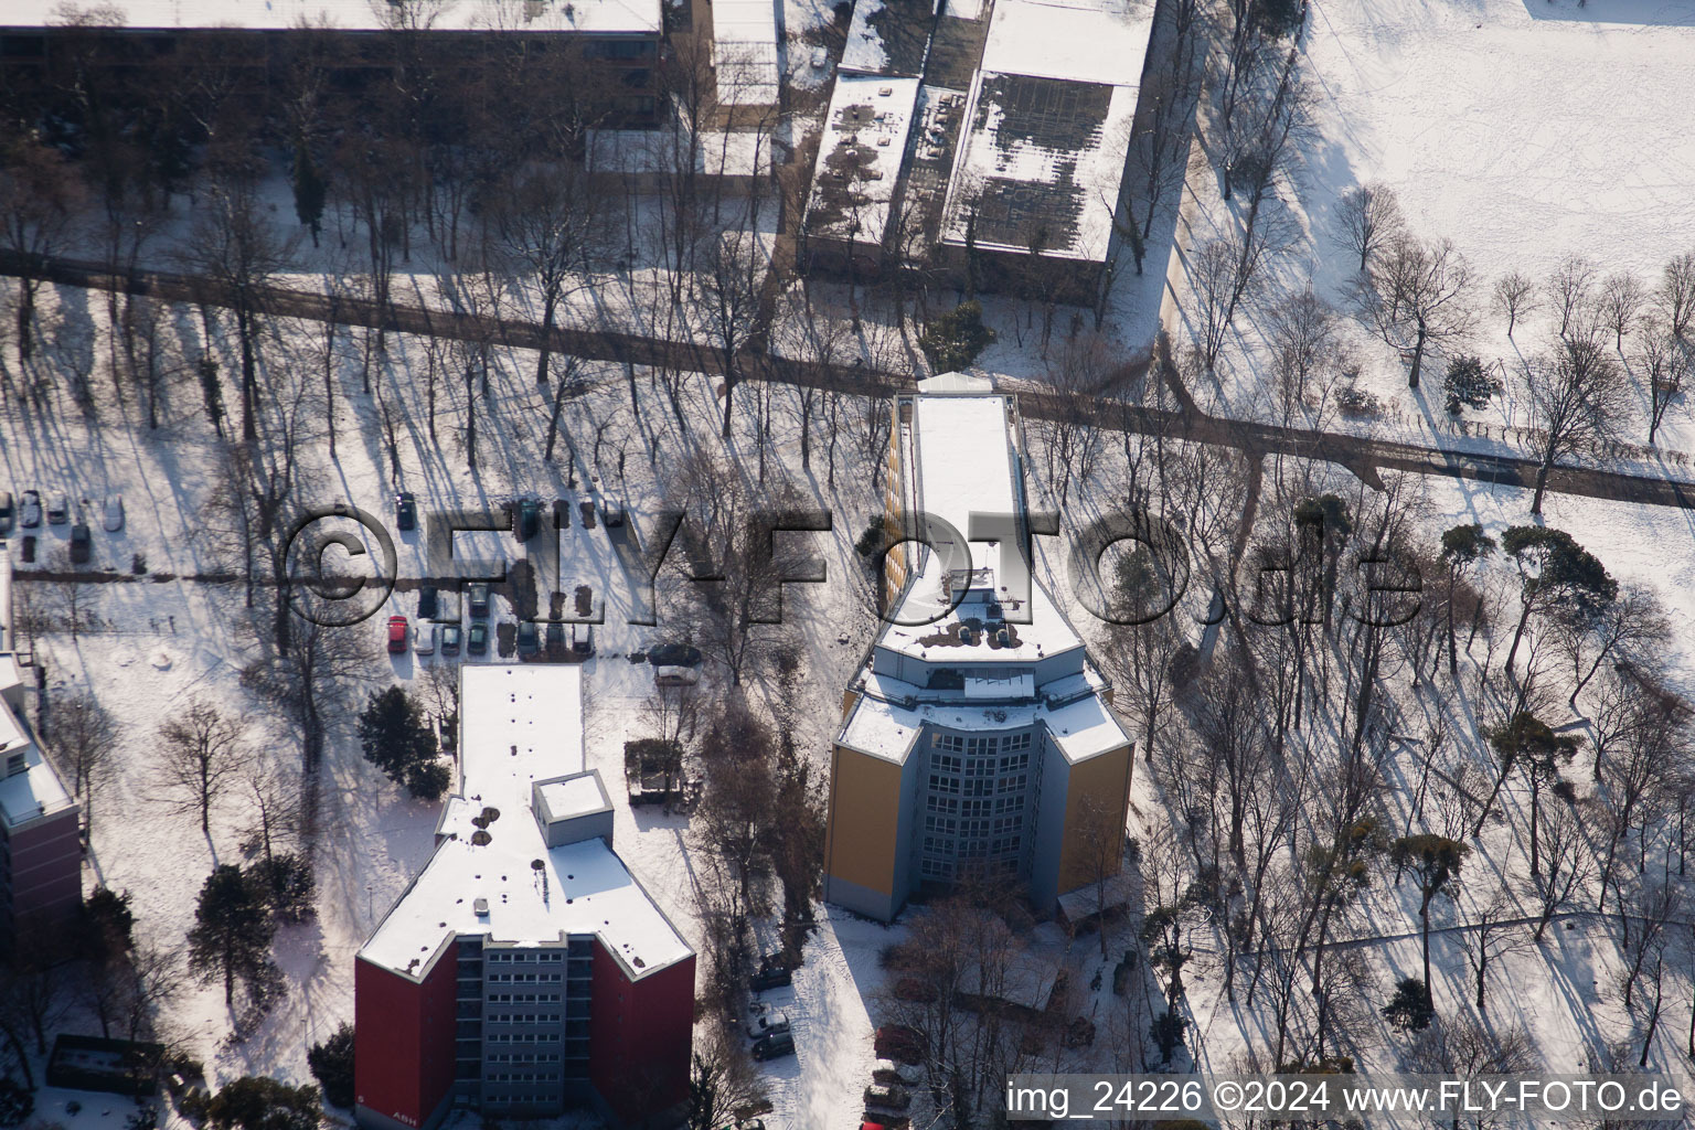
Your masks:
{"label": "spreading bare tree in snow just left of round dark evergreen bush", "polygon": [[1364,319],[1378,335],[1410,352],[1407,386],[1419,386],[1424,351],[1464,337],[1471,329],[1466,300],[1471,268],[1453,242],[1395,239],[1356,291]]}

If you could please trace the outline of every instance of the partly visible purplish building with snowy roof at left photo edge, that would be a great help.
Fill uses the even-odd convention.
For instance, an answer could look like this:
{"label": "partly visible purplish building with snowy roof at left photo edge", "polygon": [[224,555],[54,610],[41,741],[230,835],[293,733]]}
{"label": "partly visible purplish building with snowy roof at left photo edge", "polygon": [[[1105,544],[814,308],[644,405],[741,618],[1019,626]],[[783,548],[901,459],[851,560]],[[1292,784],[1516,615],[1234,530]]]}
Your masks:
{"label": "partly visible purplish building with snowy roof at left photo edge", "polygon": [[[25,674],[31,676],[25,679]],[[0,542],[0,949],[51,937],[83,901],[81,808],[29,725],[34,667],[12,634],[12,557]]]}

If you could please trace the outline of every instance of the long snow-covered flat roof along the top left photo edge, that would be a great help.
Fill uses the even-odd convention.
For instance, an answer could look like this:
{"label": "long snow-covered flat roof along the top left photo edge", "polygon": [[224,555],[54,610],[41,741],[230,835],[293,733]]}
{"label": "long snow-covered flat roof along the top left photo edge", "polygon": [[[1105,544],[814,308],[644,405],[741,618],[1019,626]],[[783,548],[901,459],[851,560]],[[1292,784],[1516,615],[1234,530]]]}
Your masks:
{"label": "long snow-covered flat roof along the top left photo edge", "polygon": [[[63,0],[7,0],[0,25],[53,27],[66,22],[64,10]],[[386,30],[397,27],[402,7],[385,0],[114,0],[100,10],[115,12],[117,25],[134,30]],[[405,10],[425,30],[442,32],[659,32],[659,0],[432,0]]]}

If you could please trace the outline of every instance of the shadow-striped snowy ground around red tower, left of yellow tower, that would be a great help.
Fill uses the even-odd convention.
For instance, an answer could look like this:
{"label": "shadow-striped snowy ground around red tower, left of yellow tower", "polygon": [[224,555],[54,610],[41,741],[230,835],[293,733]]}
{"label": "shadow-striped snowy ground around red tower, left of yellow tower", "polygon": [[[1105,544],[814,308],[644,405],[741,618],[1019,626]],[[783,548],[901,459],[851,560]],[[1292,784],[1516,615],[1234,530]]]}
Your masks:
{"label": "shadow-striped snowy ground around red tower, left of yellow tower", "polygon": [[[10,296],[10,295],[7,295]],[[76,291],[44,293],[42,329],[49,342],[85,339],[103,324],[103,302]],[[183,335],[193,356],[198,322],[171,319],[171,339]],[[266,346],[268,364],[278,373],[300,363],[300,352],[319,341],[317,327],[280,324]],[[219,349],[231,342],[219,341]],[[81,346],[86,349],[86,342]],[[175,347],[175,346],[173,346]],[[59,344],[53,346],[61,349]],[[629,520],[642,532],[653,530],[664,476],[683,459],[683,451],[703,446],[724,451],[717,437],[719,408],[714,385],[683,381],[681,410],[690,427],[680,434],[663,393],[639,376],[641,424],[631,415],[629,390],[622,371],[588,369],[588,391],[571,400],[563,427],[576,442],[576,486],[568,481],[568,444],[559,444],[559,461],[541,459],[546,413],[534,388],[534,354],[498,352],[490,376],[490,395],[478,396],[480,468],[464,461],[463,390],[442,386],[437,435],[429,439],[422,373],[429,361],[425,344],[414,337],[392,337],[388,354],[375,376],[381,400],[395,418],[400,437],[402,473],[393,476],[383,430],[376,420],[378,400],[359,391],[359,349],[342,337],[334,359],[337,398],[336,457],[327,452],[322,407],[314,408],[305,463],[319,464],[324,503],[351,501],[380,520],[392,518],[397,488],[412,490],[424,513],[439,508],[478,508],[514,495],[541,498],[588,498],[615,493],[629,505]],[[173,354],[175,356],[175,354]],[[7,359],[10,366],[10,357]],[[225,369],[229,371],[229,369]],[[36,396],[17,395],[22,383],[41,378]],[[205,539],[208,496],[219,478],[219,446],[205,424],[200,390],[176,376],[168,383],[161,417],[166,425],[149,434],[134,393],[122,405],[112,403],[103,374],[95,374],[100,420],[85,420],[63,391],[56,369],[12,368],[0,444],[0,490],[63,490],[95,529],[93,568],[115,578],[86,584],[80,593],[85,627],[75,637],[64,630],[36,639],[41,662],[49,671],[49,688],[59,693],[86,688],[117,718],[124,734],[117,754],[120,769],[114,783],[95,798],[93,849],[88,883],[127,889],[134,896],[137,935],[149,944],[181,950],[193,920],[193,906],[205,876],[217,862],[241,861],[237,847],[249,823],[249,805],[241,795],[227,796],[214,811],[212,835],[203,837],[197,820],[170,803],[158,783],[159,749],[156,732],[166,717],[197,696],[215,701],[229,713],[249,718],[249,742],[264,757],[298,761],[298,744],[288,723],[241,683],[242,669],[254,657],[246,620],[242,588],[234,583],[180,579],[212,573],[220,556]],[[315,379],[315,378],[314,378]],[[305,390],[302,395],[315,395]],[[844,424],[856,413],[844,408]],[[803,728],[800,747],[820,759],[839,706],[841,686],[858,662],[868,639],[871,613],[859,607],[859,593],[848,581],[858,569],[853,540],[863,527],[871,501],[863,488],[863,446],[846,437],[836,447],[834,493],[825,490],[825,449],[814,424],[812,469],[798,457],[798,422],[792,390],[778,388],[773,407],[773,469],[786,473],[803,491],[814,493],[836,512],[832,534],[814,537],[815,552],[829,562],[825,586],[790,586],[785,615],[802,649],[805,703],[797,710]],[[856,417],[854,417],[856,418]],[[751,439],[753,402],[739,402],[739,434],[731,459],[736,474],[753,476],[756,461]],[[595,437],[600,435],[597,451]],[[598,463],[595,456],[598,454]],[[734,451],[729,452],[734,456]],[[649,457],[651,456],[651,457]],[[100,503],[122,495],[127,525],[119,534],[100,530]],[[66,542],[68,527],[41,527],[36,566],[22,566],[19,591],[37,608],[56,610],[59,586],[31,579],[27,569],[51,562]],[[17,534],[22,534],[19,530]],[[10,539],[17,561],[20,539]],[[366,539],[370,540],[370,539]],[[419,576],[425,547],[419,534],[395,530],[398,573]],[[502,552],[517,557],[507,535],[461,539],[459,552]],[[127,579],[132,554],[142,554],[149,576]],[[170,579],[166,579],[170,578]],[[588,688],[586,757],[598,767],[615,795],[615,847],[634,874],[661,901],[666,913],[695,945],[702,935],[692,895],[692,861],[686,817],[663,817],[654,810],[632,811],[622,796],[622,749],[641,730],[641,703],[653,674],[646,664],[625,656],[676,632],[680,612],[661,605],[656,629],[627,623],[632,591],[603,529],[585,530],[580,522],[563,540],[561,578],[585,581],[605,600],[607,622],[597,629],[598,654],[585,666]],[[359,695],[390,683],[419,688],[427,667],[451,662],[498,662],[495,647],[486,657],[388,656],[380,649],[380,625],[390,613],[415,613],[410,591],[397,591],[358,632],[368,632],[371,657],[359,674]],[[90,618],[92,617],[92,618]],[[495,620],[512,617],[497,601]],[[671,618],[668,618],[671,617]],[[848,635],[849,642],[839,639]],[[276,961],[288,981],[288,996],[258,1028],[236,1035],[232,1016],[219,986],[192,986],[168,1015],[168,1030],[203,1057],[214,1083],[264,1072],[297,1083],[310,1081],[305,1050],[353,1013],[353,959],[386,908],[417,874],[432,847],[437,806],[414,801],[363,761],[351,718],[332,720],[325,754],[322,834],[317,849],[319,915],[303,927],[278,933]],[[766,1083],[776,1105],[775,1116],[793,1127],[846,1125],[858,1115],[859,1091],[870,1079],[871,1016],[864,993],[880,979],[878,950],[890,930],[851,917],[820,915],[819,930],[807,944],[807,964],[797,972],[793,1001],[785,1005],[797,1022],[798,1054],[771,1064]],[[90,1030],[92,1018],[78,1011],[66,1030]],[[125,1103],[108,1115],[114,1103],[90,1103],[66,1118],[58,1096],[42,1094],[44,1113],[93,1130],[115,1125]]]}

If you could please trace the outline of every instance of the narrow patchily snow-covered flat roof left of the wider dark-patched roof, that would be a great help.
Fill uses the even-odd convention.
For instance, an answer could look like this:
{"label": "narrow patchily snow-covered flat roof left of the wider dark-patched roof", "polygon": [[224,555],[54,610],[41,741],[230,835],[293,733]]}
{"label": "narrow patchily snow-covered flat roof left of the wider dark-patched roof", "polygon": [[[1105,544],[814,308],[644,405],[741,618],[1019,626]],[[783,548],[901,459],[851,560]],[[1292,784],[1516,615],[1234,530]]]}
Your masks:
{"label": "narrow patchily snow-covered flat roof left of the wider dark-patched roof", "polygon": [[807,205],[812,235],[881,246],[917,98],[915,78],[836,76]]}

